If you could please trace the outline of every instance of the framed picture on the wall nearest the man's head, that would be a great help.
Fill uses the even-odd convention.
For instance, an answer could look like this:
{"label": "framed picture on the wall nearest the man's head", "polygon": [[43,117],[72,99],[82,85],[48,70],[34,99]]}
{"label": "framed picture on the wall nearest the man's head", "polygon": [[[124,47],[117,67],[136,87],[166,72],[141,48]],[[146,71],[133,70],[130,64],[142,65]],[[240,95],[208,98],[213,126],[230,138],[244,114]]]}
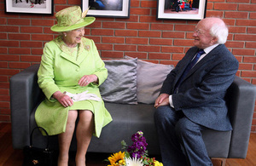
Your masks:
{"label": "framed picture on the wall nearest the man's head", "polygon": [[157,19],[202,20],[207,0],[158,0]]}

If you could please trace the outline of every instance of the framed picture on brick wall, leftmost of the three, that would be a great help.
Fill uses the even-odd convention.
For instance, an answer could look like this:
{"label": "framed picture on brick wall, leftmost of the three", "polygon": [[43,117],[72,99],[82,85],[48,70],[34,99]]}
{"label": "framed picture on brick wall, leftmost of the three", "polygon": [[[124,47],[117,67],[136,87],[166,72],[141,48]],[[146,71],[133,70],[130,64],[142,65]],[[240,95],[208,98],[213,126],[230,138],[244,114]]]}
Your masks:
{"label": "framed picture on brick wall, leftmost of the three", "polygon": [[5,13],[53,14],[54,0],[4,0]]}

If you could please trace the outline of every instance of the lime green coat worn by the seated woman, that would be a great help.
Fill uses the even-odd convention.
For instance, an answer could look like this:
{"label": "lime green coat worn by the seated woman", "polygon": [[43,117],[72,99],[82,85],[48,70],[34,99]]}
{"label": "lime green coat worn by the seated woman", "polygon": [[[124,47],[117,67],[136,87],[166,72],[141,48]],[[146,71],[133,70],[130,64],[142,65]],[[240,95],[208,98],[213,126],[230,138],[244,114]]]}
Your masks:
{"label": "lime green coat worn by the seated woman", "polygon": [[[99,83],[90,83],[86,87],[79,86],[79,79],[90,74],[95,74]],[[90,110],[94,113],[95,135],[99,137],[102,128],[112,121],[103,100],[76,101],[73,106],[66,108],[58,100],[53,99],[52,94],[58,90],[72,94],[88,90],[88,93],[96,94],[102,99],[98,87],[107,77],[108,70],[92,40],[82,38],[78,46],[77,57],[71,54],[61,37],[46,43],[38,70],[38,85],[46,96],[35,114],[38,126],[46,129],[49,135],[58,135],[66,130],[69,110]]]}

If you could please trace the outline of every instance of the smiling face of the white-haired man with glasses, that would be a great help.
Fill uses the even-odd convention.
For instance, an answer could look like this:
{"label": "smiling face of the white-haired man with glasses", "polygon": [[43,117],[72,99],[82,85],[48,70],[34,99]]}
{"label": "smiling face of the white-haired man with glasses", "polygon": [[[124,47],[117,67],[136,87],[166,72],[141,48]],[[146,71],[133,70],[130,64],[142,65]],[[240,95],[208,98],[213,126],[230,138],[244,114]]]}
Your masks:
{"label": "smiling face of the white-haired man with glasses", "polygon": [[206,49],[207,47],[214,44],[214,37],[212,37],[210,34],[211,25],[212,24],[209,24],[207,20],[201,20],[197,26],[195,26],[195,31],[193,33],[193,43],[197,48]]}

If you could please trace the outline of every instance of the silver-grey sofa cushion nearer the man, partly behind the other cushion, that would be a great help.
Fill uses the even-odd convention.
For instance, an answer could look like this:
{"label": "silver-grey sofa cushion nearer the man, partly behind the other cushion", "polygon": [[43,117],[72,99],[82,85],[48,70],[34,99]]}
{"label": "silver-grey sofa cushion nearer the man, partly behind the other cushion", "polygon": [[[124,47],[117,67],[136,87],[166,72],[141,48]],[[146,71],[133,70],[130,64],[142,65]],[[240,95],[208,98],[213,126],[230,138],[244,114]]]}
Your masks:
{"label": "silver-grey sofa cushion nearer the man, partly behind the other cushion", "polygon": [[[126,59],[132,59],[125,56]],[[137,102],[154,104],[158,97],[162,83],[174,66],[154,64],[144,60],[137,60]]]}

